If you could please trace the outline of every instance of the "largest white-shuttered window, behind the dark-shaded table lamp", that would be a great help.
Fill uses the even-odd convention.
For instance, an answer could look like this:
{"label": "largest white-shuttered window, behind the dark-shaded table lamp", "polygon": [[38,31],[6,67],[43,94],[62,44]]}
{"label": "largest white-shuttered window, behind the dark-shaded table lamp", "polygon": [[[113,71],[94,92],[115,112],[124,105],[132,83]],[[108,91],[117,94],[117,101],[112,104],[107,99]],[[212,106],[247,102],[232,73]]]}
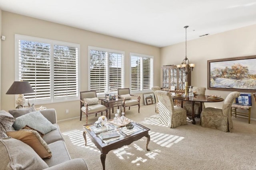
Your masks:
{"label": "largest white-shuttered window, behind the dark-shaded table lamp", "polygon": [[79,99],[80,45],[21,35],[15,39],[16,80],[28,81],[35,91],[24,94],[26,99],[35,104]]}

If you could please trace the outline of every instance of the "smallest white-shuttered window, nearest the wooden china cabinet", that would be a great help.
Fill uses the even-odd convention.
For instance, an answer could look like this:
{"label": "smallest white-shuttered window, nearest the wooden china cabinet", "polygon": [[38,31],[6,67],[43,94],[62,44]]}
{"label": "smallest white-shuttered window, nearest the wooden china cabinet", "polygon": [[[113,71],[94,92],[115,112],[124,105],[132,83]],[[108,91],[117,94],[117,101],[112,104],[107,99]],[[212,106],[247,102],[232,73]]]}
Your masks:
{"label": "smallest white-shuttered window, nearest the wooden china cabinet", "polygon": [[131,91],[145,91],[153,87],[153,56],[130,53]]}

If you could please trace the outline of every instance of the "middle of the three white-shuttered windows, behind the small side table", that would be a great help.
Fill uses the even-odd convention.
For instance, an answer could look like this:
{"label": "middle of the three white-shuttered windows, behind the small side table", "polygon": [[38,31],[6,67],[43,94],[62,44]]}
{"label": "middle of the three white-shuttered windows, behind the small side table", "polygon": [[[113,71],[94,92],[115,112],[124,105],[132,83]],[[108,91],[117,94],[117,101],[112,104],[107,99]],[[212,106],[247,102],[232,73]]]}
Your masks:
{"label": "middle of the three white-shuttered windows, behind the small side table", "polygon": [[89,87],[97,94],[117,93],[124,87],[124,51],[88,47],[89,51]]}

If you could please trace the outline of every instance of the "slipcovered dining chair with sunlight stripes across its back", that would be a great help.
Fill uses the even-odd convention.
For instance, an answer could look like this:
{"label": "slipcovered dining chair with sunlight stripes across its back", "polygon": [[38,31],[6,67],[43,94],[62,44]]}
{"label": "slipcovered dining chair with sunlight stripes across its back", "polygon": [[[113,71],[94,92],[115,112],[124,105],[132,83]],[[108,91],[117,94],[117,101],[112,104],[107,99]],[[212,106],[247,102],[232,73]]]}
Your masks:
{"label": "slipcovered dining chair with sunlight stripes across its back", "polygon": [[187,125],[186,110],[175,106],[172,95],[168,91],[155,91],[158,97],[159,122],[169,128],[176,128],[180,125]]}

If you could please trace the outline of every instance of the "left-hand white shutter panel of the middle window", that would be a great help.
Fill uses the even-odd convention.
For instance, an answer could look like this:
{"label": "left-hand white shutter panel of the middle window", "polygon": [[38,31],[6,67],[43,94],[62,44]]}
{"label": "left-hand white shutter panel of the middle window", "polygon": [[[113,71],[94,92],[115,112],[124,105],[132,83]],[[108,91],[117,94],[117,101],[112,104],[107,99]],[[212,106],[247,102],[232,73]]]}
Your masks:
{"label": "left-hand white shutter panel of the middle window", "polygon": [[107,52],[90,50],[90,90],[104,94],[108,79]]}

